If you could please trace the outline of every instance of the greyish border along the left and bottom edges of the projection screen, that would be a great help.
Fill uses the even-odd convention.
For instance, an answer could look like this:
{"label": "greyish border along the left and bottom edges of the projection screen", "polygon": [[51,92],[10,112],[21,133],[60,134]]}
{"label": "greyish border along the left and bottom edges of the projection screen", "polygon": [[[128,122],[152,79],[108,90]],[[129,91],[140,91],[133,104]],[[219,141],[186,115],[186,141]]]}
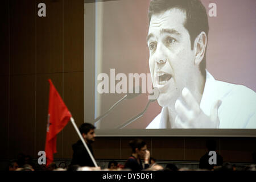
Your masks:
{"label": "greyish border along the left and bottom edges of the projection screen", "polygon": [[[102,2],[102,1],[97,1]],[[85,10],[86,5],[93,7],[92,10]],[[97,98],[93,89],[96,88],[94,82],[96,80],[96,55],[95,49],[97,43],[96,38],[96,3],[95,1],[86,1],[84,3],[85,14],[94,22],[90,22],[91,26],[84,24],[84,122],[94,124],[94,118],[97,113],[95,111],[95,102],[92,99]],[[85,21],[85,19],[84,19]],[[88,23],[88,22],[87,22]],[[89,30],[88,30],[89,28]],[[86,31],[85,31],[86,30]],[[85,33],[86,32],[86,33]],[[86,38],[94,38],[92,45],[86,44]],[[92,77],[92,81],[86,82],[88,77]],[[88,89],[91,88],[91,89]],[[245,137],[255,138],[256,129],[96,129],[97,137]]]}

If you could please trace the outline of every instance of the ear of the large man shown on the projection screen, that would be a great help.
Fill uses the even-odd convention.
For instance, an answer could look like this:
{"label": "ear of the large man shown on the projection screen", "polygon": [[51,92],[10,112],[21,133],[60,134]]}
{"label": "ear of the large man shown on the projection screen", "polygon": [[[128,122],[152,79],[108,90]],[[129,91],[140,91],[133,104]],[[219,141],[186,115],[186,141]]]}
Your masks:
{"label": "ear of the large man shown on the projection screen", "polygon": [[204,59],[205,49],[207,47],[207,36],[205,32],[201,32],[194,43],[194,52],[195,52],[195,64],[199,65]]}

